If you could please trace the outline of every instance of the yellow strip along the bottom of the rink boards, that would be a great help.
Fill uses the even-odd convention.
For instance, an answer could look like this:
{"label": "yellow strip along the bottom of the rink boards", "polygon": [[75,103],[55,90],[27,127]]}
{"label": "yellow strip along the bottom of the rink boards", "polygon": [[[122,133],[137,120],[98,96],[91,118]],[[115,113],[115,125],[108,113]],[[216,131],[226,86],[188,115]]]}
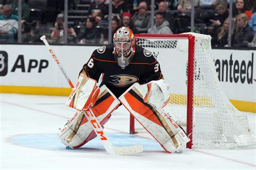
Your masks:
{"label": "yellow strip along the bottom of the rink boards", "polygon": [[[69,96],[71,94],[71,88],[59,88],[59,87],[28,87],[28,86],[0,86],[0,93],[17,93],[17,94],[29,94],[29,95],[51,95],[51,96]],[[174,97],[173,95],[171,97]],[[180,96],[180,95],[179,95]],[[186,95],[182,96],[184,103],[186,103]],[[197,101],[197,99],[195,100]],[[231,103],[240,111],[248,111],[256,113],[256,102],[246,102],[230,100]],[[211,100],[205,98],[206,103],[211,103]],[[172,102],[176,103],[176,102]],[[180,101],[179,101],[179,104]]]}

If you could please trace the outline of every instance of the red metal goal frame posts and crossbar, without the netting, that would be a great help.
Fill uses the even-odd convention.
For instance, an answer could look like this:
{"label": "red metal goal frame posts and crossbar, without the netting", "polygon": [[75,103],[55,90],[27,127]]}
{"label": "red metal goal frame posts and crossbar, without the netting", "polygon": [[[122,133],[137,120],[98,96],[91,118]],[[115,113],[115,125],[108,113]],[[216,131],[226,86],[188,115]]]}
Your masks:
{"label": "red metal goal frame posts and crossbar, without the netting", "polygon": [[[193,77],[194,77],[194,45],[195,37],[192,34],[135,34],[137,39],[187,39],[188,40],[188,66],[187,66],[187,128],[186,133],[190,141],[186,144],[187,148],[192,148],[192,128],[193,128]],[[130,134],[135,133],[134,117],[130,115]]]}

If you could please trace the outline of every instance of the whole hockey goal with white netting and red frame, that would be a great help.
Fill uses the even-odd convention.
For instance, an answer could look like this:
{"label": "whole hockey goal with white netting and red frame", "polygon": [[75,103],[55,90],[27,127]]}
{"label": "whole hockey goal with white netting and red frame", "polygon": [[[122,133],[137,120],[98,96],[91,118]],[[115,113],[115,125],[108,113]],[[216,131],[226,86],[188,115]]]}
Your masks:
{"label": "whole hockey goal with white netting and red frame", "polygon": [[[255,147],[247,116],[232,105],[220,88],[210,36],[138,34],[136,41],[160,63],[170,85],[170,101],[164,110],[186,129],[192,139],[188,148]],[[131,116],[130,132],[143,132],[142,129]]]}

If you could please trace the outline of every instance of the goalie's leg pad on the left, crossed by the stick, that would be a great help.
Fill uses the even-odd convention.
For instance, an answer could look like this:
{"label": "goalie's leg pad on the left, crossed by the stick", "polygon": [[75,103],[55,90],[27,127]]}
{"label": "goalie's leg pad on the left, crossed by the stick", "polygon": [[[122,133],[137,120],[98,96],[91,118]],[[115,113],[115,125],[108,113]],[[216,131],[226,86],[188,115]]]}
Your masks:
{"label": "goalie's leg pad on the left, crossed by the stick", "polygon": [[[104,125],[110,119],[110,114],[118,107],[120,102],[106,86],[100,88],[95,105],[92,107],[93,113]],[[62,143],[70,148],[78,148],[95,138],[97,135],[93,131],[92,125],[87,121],[83,112],[76,112],[70,121],[58,132]]]}

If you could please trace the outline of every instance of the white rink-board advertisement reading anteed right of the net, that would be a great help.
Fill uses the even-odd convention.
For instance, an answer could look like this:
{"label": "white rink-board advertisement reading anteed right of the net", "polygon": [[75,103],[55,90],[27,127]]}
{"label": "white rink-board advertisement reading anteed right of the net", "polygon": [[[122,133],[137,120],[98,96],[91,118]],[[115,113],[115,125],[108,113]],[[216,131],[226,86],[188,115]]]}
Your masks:
{"label": "white rink-board advertisement reading anteed right of the net", "polygon": [[256,102],[256,51],[213,49],[216,72],[229,99]]}

